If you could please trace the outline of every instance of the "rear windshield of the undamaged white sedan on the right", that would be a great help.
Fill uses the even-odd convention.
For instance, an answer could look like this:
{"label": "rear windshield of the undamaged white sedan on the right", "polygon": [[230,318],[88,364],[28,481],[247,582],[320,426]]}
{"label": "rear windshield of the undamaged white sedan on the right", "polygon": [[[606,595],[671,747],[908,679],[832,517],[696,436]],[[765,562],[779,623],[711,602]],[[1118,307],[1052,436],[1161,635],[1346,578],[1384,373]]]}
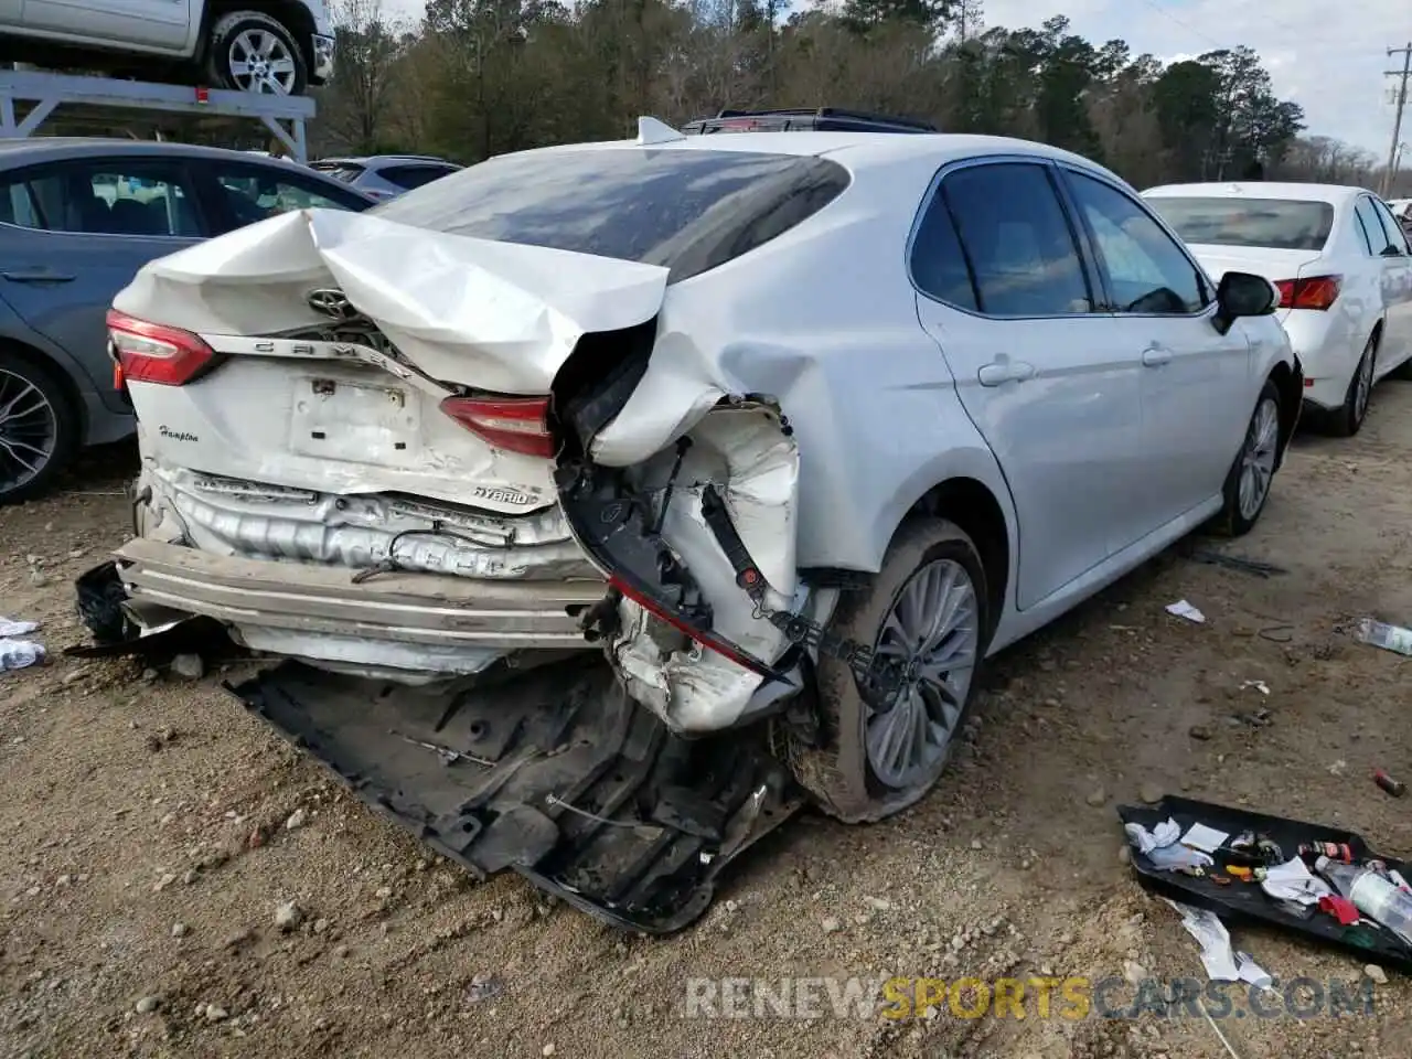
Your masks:
{"label": "rear windshield of the undamaged white sedan on the right", "polygon": [[1303,199],[1148,199],[1187,243],[1323,250],[1333,206]]}

